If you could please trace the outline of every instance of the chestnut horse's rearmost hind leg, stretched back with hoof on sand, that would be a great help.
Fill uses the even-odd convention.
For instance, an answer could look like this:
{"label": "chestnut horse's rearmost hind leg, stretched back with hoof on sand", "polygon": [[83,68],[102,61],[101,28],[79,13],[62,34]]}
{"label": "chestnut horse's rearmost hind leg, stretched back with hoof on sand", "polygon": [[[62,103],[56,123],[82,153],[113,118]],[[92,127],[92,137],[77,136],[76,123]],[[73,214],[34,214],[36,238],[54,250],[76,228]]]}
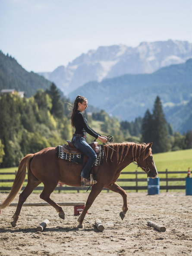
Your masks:
{"label": "chestnut horse's rearmost hind leg, stretched back with hoof on sand", "polygon": [[[32,177],[32,179],[30,179],[29,176]],[[12,217],[13,221],[11,221],[12,227],[16,226],[23,203],[28,198],[28,196],[32,193],[32,191],[35,189],[35,187],[41,183],[41,181],[36,179],[33,174],[30,174],[29,176],[28,176],[27,186],[25,187],[23,192],[19,195],[19,202],[17,204],[16,212],[14,213],[14,215]]]}

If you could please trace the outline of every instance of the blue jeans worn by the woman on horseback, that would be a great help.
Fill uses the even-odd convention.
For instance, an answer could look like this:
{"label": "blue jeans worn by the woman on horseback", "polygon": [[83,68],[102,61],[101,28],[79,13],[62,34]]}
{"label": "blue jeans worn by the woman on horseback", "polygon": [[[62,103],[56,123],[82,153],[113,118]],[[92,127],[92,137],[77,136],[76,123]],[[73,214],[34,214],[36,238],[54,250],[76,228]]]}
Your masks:
{"label": "blue jeans worn by the woman on horseback", "polygon": [[94,150],[88,145],[84,137],[72,137],[72,144],[76,146],[82,153],[88,156],[88,161],[86,162],[84,168],[82,169],[81,176],[88,179],[91,168],[94,161],[97,159],[97,155]]}

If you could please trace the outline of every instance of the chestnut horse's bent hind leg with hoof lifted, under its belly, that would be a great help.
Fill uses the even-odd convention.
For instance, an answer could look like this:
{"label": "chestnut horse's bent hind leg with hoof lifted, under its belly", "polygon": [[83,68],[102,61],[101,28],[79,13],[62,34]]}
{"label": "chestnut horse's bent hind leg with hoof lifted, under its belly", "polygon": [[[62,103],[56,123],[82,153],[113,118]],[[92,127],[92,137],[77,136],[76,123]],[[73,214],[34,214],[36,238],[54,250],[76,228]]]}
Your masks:
{"label": "chestnut horse's bent hind leg with hoof lifted, under its belly", "polygon": [[[52,181],[53,182],[53,181]],[[57,182],[54,184],[48,184],[44,183],[44,190],[42,191],[40,198],[48,202],[50,205],[52,205],[56,211],[59,213],[59,217],[62,218],[63,220],[65,219],[65,213],[63,212],[63,209],[60,205],[58,205],[56,202],[50,199],[50,194],[54,191],[54,189],[57,186]]]}

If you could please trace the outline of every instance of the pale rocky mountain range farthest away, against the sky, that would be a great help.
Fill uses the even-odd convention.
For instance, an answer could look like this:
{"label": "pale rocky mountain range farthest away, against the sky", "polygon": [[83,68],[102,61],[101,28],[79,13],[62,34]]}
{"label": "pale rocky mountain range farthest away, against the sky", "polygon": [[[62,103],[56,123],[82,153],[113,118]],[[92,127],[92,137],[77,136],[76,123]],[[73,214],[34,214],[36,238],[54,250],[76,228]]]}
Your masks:
{"label": "pale rocky mountain range farthest away, against the sky", "polygon": [[184,63],[189,58],[192,58],[192,44],[187,41],[142,42],[138,47],[101,46],[82,54],[66,67],[58,66],[53,72],[39,75],[53,81],[68,95],[90,81],[101,82],[124,74],[154,73],[164,66]]}

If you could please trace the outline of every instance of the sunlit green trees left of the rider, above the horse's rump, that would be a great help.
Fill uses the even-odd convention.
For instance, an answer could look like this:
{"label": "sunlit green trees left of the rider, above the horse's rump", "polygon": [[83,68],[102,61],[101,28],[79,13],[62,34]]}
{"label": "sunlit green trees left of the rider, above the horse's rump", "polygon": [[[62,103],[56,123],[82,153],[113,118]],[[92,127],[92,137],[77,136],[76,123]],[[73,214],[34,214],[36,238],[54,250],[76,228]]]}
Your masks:
{"label": "sunlit green trees left of the rider, above the horse's rump", "polygon": [[28,153],[70,139],[72,128],[67,102],[54,84],[49,90],[38,90],[30,98],[21,98],[17,92],[1,95],[1,167],[17,166]]}

